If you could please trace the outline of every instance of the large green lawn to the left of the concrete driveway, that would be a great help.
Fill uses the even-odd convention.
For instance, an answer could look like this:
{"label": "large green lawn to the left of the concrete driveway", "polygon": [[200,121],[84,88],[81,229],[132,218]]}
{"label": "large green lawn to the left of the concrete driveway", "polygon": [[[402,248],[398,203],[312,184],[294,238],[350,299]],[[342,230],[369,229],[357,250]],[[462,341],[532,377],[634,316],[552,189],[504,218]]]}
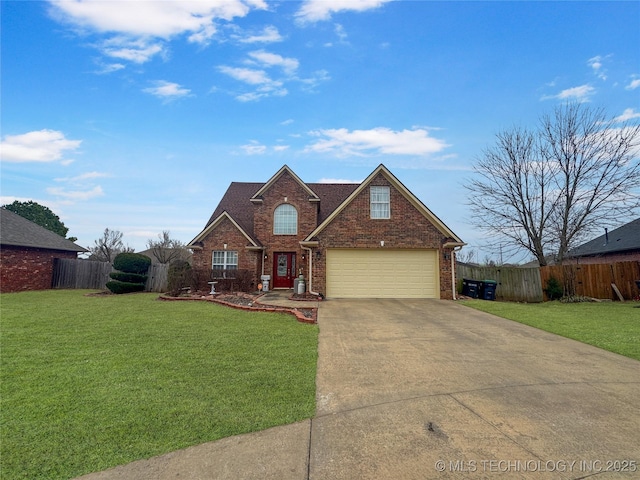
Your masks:
{"label": "large green lawn to the left of the concrete driveway", "polygon": [[86,293],[0,296],[1,478],[70,478],[313,416],[317,326]]}

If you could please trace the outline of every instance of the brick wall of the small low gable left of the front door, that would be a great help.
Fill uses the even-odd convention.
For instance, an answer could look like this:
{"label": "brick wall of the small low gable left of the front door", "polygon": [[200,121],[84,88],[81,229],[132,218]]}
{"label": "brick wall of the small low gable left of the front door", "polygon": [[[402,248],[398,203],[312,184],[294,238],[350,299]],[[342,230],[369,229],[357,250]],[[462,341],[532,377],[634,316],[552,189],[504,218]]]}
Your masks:
{"label": "brick wall of the small low gable left of the front door", "polygon": [[254,272],[256,280],[260,279],[262,252],[247,250],[247,246],[251,245],[250,242],[228,218],[224,218],[202,243],[204,244],[202,250],[193,251],[191,266],[196,272],[199,284],[192,287],[199,290],[209,288],[207,282],[211,274],[212,252],[224,250],[225,243],[227,250],[238,252],[238,270]]}

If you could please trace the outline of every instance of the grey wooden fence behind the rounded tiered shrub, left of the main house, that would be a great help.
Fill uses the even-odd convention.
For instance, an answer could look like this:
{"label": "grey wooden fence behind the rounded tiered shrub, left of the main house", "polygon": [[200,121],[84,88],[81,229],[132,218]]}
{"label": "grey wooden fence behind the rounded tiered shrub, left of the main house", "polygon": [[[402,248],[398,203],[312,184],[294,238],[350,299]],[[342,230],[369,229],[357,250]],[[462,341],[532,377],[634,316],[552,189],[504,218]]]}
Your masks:
{"label": "grey wooden fence behind the rounded tiered shrub, left of the main house", "polygon": [[[93,262],[89,260],[73,260],[56,258],[53,263],[52,288],[95,288],[106,289],[111,278],[109,273],[115,271],[108,262]],[[164,292],[167,289],[167,273],[169,266],[152,264],[149,267],[145,291]]]}

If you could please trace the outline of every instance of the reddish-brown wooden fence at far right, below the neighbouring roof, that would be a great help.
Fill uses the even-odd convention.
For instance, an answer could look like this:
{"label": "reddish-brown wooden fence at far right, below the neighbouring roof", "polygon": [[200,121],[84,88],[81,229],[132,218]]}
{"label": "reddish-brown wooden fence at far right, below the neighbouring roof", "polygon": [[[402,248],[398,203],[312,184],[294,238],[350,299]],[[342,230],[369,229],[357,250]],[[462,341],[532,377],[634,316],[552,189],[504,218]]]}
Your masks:
{"label": "reddish-brown wooden fence at far right, below the neighbouring roof", "polygon": [[615,284],[624,299],[631,300],[638,296],[635,282],[640,280],[640,262],[540,267],[542,285],[546,285],[551,277],[561,285],[573,285],[576,295],[601,299],[618,300],[611,286]]}

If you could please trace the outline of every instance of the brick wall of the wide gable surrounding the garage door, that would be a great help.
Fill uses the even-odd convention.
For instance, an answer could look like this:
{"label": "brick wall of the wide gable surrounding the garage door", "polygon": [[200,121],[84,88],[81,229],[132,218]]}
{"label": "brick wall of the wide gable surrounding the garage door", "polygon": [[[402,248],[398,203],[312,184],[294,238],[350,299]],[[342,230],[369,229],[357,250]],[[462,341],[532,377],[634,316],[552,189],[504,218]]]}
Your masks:
{"label": "brick wall of the wide gable surrounding the garage door", "polygon": [[[391,186],[384,175],[378,175],[371,185]],[[448,239],[412,205],[398,190],[391,186],[391,218],[371,219],[369,188],[336,217],[318,235],[320,260],[314,259],[313,289],[326,292],[326,249],[327,248],[433,248],[439,250],[440,298],[453,296],[451,278],[451,248],[443,245]],[[384,241],[384,247],[380,246]]]}

